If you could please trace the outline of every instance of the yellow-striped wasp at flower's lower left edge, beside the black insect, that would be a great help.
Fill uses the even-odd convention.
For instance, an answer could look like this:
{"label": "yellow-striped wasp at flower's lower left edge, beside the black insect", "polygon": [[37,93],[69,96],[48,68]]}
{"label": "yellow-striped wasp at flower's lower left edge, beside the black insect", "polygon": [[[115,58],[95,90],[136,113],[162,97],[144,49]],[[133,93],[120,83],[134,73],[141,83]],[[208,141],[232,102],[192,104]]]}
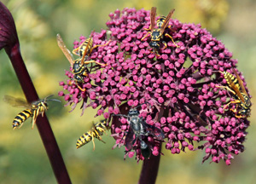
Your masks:
{"label": "yellow-striped wasp at flower's lower left edge, beside the black insect", "polygon": [[[97,138],[98,140],[102,141],[101,135],[103,135],[106,130],[108,130],[109,127],[107,125],[107,120],[102,120],[101,122],[97,124],[93,124],[92,129],[90,129],[88,132],[84,133],[84,135],[80,136],[79,140],[77,141],[77,149],[79,147],[84,146],[88,142],[92,141],[93,143],[93,150],[95,150],[95,143],[94,138]],[[102,141],[104,142],[104,141]],[[105,142],[104,142],[105,143]]]}

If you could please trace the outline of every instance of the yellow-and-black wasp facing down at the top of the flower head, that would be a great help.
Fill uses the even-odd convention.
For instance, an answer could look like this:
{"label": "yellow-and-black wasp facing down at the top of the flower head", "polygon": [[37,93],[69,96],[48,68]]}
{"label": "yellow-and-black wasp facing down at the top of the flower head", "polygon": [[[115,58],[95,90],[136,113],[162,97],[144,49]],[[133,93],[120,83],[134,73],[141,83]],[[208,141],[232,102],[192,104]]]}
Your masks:
{"label": "yellow-and-black wasp facing down at the top of the flower head", "polygon": [[[172,18],[172,14],[175,9],[172,9],[170,13],[167,16],[161,16],[157,21],[156,21],[156,26],[157,28],[155,29],[155,14],[156,14],[156,8],[152,7],[151,8],[151,13],[150,13],[150,26],[149,28],[144,28],[145,30],[149,31],[147,34],[141,39],[142,41],[148,36],[150,33],[151,36],[151,41],[149,43],[149,46],[154,50],[154,53],[158,53],[158,50],[160,49],[160,43],[163,43],[165,45],[165,48],[167,48],[166,42],[163,40],[164,36],[170,37],[172,39],[172,43],[174,43],[176,46],[177,44],[174,42],[173,38],[171,35],[168,33],[164,34],[166,27],[169,24],[169,20]],[[169,28],[171,26],[168,26]],[[177,46],[178,47],[178,46]]]}

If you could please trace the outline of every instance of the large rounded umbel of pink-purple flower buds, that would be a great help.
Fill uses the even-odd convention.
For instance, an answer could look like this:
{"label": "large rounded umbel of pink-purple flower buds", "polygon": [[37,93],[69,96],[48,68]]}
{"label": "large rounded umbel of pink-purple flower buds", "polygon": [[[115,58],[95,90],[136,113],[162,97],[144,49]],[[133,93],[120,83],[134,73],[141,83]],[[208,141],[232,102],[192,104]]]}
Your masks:
{"label": "large rounded umbel of pink-purple flower buds", "polygon": [[[203,162],[211,157],[212,162],[224,159],[230,164],[233,155],[244,150],[249,121],[247,117],[237,118],[230,110],[239,109],[239,105],[230,103],[230,109],[224,108],[236,95],[218,88],[228,86],[222,72],[230,72],[237,63],[224,43],[200,25],[171,19],[165,32],[174,43],[170,37],[164,37],[167,47],[160,43],[156,55],[149,46],[151,37],[142,41],[148,32],[144,28],[150,26],[150,11],[116,10],[109,17],[108,30],[92,37],[94,45],[110,42],[93,49],[86,57],[106,66],[88,66],[83,83],[74,83],[73,72],[67,71],[67,82],[60,83],[67,92],[59,92],[67,101],[66,106],[74,109],[81,102],[82,113],[92,106],[99,108],[96,116],[110,120],[113,114],[127,114],[131,108],[144,104],[138,108],[139,116],[146,124],[162,130],[166,149],[172,154],[204,149]],[[74,48],[83,42],[84,37],[80,37]],[[125,145],[129,125],[125,118],[112,118],[114,147]],[[160,154],[160,141],[154,136],[145,136],[143,141],[148,142],[153,155]],[[144,159],[140,143],[135,141],[126,155],[132,157],[136,153],[137,160]]]}

